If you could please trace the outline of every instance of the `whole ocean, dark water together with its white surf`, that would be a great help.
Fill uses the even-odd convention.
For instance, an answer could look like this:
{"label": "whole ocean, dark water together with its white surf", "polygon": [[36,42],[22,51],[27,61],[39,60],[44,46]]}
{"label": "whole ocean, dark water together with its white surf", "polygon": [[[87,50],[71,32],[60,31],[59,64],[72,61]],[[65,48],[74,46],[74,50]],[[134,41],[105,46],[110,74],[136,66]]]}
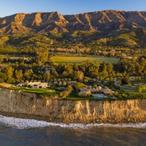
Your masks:
{"label": "whole ocean, dark water together with its white surf", "polygon": [[146,146],[146,123],[68,125],[1,115],[0,146]]}

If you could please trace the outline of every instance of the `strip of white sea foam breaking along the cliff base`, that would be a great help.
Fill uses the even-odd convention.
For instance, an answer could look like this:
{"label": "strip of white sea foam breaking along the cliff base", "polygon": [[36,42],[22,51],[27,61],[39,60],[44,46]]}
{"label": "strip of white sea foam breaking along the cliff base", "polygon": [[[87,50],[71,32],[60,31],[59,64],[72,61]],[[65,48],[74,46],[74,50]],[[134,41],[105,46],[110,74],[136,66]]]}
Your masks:
{"label": "strip of white sea foam breaking along the cliff base", "polygon": [[64,123],[52,123],[46,121],[39,121],[34,119],[22,119],[15,117],[6,117],[0,115],[0,123],[8,127],[14,127],[17,129],[28,128],[43,128],[43,127],[62,127],[62,128],[92,128],[92,127],[114,127],[114,128],[146,128],[146,123],[125,123],[125,124],[64,124]]}

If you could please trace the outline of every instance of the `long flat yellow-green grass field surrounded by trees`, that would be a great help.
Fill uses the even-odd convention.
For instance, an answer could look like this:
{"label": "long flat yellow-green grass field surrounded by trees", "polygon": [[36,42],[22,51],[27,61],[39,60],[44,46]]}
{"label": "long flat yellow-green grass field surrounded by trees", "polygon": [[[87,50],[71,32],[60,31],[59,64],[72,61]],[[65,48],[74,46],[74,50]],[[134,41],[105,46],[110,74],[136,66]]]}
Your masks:
{"label": "long flat yellow-green grass field surrounded by trees", "polygon": [[55,63],[83,63],[89,62],[105,62],[105,63],[117,63],[118,58],[114,57],[98,57],[98,56],[53,56],[51,61]]}

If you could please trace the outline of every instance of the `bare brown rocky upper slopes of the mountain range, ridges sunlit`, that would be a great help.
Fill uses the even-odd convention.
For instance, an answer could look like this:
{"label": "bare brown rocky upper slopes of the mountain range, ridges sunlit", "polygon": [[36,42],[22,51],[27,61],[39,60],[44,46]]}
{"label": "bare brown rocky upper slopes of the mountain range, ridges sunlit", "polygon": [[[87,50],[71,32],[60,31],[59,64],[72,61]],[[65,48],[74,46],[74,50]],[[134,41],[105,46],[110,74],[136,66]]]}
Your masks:
{"label": "bare brown rocky upper slopes of the mountain range, ridges sunlit", "polygon": [[1,33],[24,32],[104,32],[146,28],[146,12],[97,11],[77,15],[50,13],[19,13],[0,18]]}

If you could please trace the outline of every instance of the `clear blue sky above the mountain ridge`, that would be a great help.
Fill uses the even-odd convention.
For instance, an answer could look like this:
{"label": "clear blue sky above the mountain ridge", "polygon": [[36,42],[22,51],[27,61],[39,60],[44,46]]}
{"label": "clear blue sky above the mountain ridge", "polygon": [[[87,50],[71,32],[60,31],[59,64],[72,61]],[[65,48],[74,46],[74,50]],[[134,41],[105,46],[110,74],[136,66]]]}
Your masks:
{"label": "clear blue sky above the mountain ridge", "polygon": [[146,11],[146,0],[0,0],[0,17],[19,12],[76,14],[99,10]]}

